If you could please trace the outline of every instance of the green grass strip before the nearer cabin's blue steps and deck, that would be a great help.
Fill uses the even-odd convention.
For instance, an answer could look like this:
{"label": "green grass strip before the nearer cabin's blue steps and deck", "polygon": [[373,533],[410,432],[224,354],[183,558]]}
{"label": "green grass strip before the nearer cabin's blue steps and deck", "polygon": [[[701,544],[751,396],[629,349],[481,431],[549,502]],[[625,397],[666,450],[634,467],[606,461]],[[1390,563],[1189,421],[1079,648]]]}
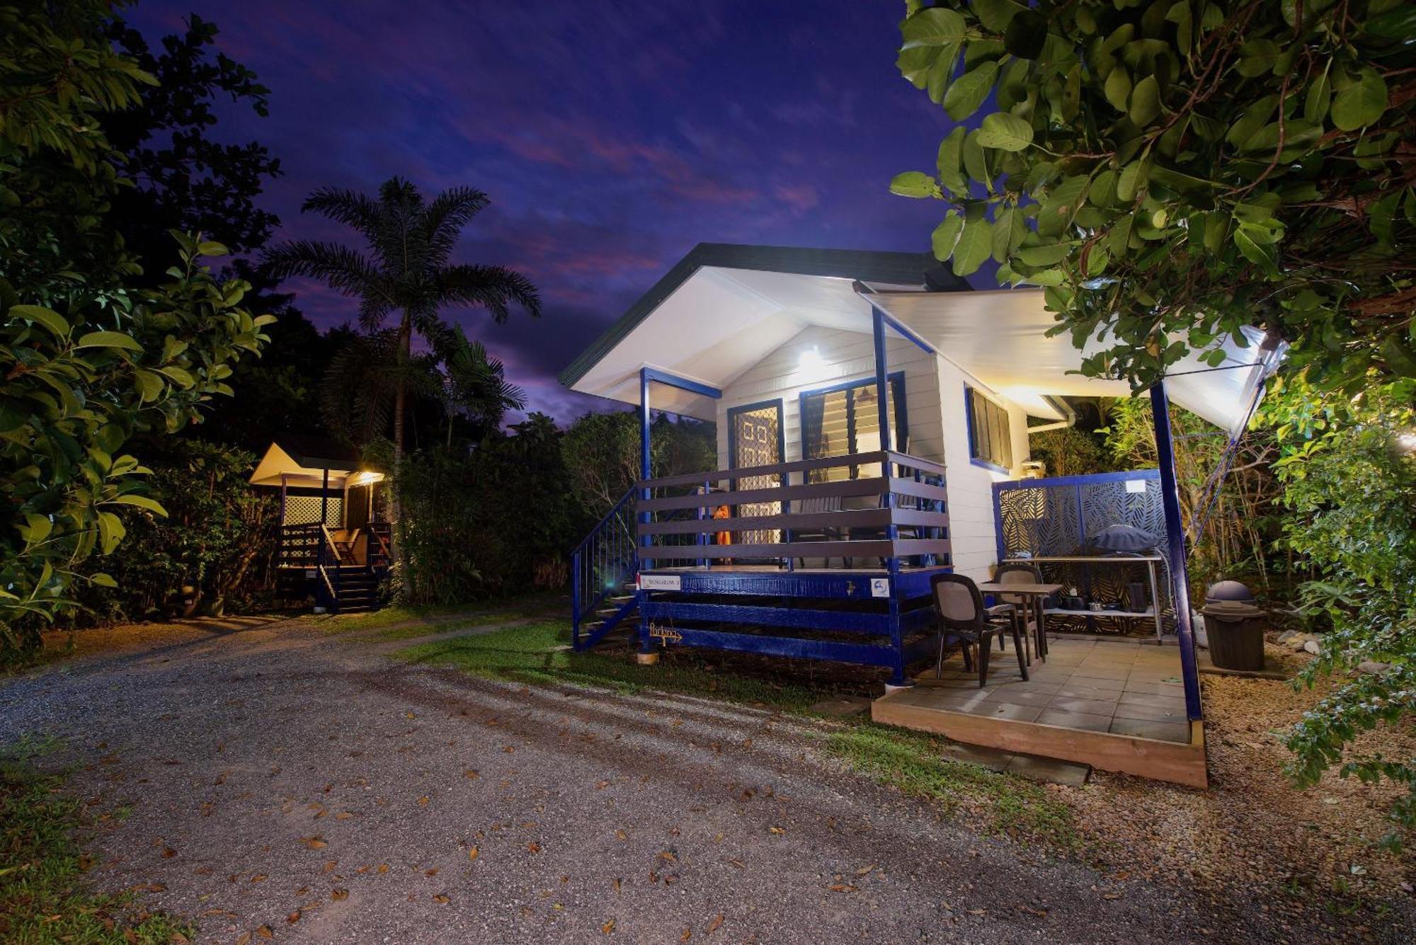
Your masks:
{"label": "green grass strip before the nearer cabin's blue steps and deck", "polygon": [[640,666],[622,656],[578,654],[569,649],[571,630],[565,621],[541,621],[524,627],[421,644],[399,649],[395,659],[455,666],[487,679],[528,683],[573,683],[634,693],[663,689],[729,702],[760,703],[787,712],[806,712],[820,693],[806,686],[776,683],[750,676],[712,673],[697,666],[656,663]]}

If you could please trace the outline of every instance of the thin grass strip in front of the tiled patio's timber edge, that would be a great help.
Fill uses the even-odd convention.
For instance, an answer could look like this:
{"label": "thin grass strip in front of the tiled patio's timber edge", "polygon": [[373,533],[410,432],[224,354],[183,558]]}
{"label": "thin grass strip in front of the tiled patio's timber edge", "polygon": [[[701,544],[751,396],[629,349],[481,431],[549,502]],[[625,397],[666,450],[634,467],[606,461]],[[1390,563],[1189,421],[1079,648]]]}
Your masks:
{"label": "thin grass strip in front of the tiled patio's timber edge", "polygon": [[874,723],[833,731],[827,750],[860,774],[950,812],[981,813],[997,833],[1076,850],[1082,846],[1072,809],[1032,781],[944,758],[946,738]]}

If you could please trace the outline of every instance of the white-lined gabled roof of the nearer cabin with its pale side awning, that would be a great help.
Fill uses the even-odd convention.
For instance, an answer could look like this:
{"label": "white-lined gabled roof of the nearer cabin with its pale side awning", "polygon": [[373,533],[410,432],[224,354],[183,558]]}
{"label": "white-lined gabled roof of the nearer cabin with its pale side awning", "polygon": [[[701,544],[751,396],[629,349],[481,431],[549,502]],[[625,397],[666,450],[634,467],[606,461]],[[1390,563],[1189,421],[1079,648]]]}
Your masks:
{"label": "white-lined gabled roof of the nearer cabin with its pale side awning", "polygon": [[[940,274],[927,255],[784,246],[701,243],[561,375],[573,390],[639,403],[641,368],[695,382],[656,385],[654,409],[712,420],[716,403],[702,388],[729,388],[807,328],[871,332],[871,308],[892,318],[940,358],[1029,414],[1059,416],[1048,396],[1126,396],[1124,381],[1080,373],[1069,335],[1041,289],[967,291]],[[1171,365],[1171,399],[1223,429],[1247,420],[1263,378],[1283,356],[1262,332],[1225,338],[1215,369],[1191,352]]]}

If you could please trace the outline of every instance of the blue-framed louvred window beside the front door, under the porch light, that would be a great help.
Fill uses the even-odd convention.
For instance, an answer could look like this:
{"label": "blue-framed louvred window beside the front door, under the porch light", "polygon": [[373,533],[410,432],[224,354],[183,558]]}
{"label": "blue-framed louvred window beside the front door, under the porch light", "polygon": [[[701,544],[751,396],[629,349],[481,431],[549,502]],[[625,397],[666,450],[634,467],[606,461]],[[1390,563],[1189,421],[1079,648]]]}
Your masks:
{"label": "blue-framed louvred window beside the front door, under the porch light", "polygon": [[[888,416],[895,424],[892,446],[903,453],[909,443],[905,422],[905,375],[892,373],[885,385]],[[881,448],[879,406],[874,381],[852,381],[824,390],[801,395],[801,456],[817,460],[828,456],[875,453]],[[809,481],[858,480],[881,474],[879,463],[838,465],[811,470]]]}

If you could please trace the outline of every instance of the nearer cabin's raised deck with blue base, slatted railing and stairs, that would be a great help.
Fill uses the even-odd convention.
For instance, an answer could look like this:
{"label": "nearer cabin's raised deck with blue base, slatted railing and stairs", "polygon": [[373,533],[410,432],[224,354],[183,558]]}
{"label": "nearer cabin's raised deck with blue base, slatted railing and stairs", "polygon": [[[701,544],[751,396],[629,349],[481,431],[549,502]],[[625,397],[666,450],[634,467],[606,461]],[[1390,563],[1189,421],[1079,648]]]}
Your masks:
{"label": "nearer cabin's raised deck with blue base, slatted railing and stairs", "polygon": [[[573,555],[575,645],[905,666],[950,569],[943,467],[879,451],[644,480]],[[833,566],[840,562],[840,566]]]}

